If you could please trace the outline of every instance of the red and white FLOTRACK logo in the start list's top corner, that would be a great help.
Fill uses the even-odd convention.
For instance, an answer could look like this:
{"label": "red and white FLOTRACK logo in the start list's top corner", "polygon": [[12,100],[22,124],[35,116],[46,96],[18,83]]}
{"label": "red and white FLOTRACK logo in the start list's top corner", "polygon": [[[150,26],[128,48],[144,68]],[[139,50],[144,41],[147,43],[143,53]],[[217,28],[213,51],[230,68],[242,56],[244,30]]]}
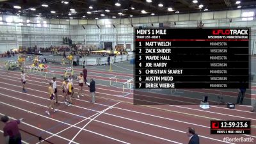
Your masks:
{"label": "red and white FLOTRACK logo in the start list's top corner", "polygon": [[248,29],[212,29],[212,35],[248,35]]}

